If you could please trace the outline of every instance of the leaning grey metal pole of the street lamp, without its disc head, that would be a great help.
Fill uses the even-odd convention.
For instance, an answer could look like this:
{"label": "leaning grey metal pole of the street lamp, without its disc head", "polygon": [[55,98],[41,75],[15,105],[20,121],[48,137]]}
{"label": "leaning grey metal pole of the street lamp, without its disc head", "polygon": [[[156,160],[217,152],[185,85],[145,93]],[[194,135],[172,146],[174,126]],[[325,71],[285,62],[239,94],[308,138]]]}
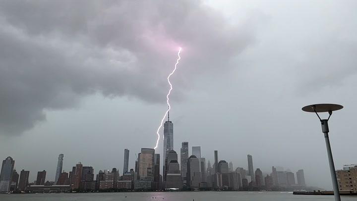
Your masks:
{"label": "leaning grey metal pole of the street lamp, without its disc head", "polygon": [[335,171],[335,164],[333,162],[333,157],[332,157],[332,151],[331,151],[331,145],[330,145],[330,139],[328,137],[328,123],[327,119],[322,119],[321,120],[321,126],[322,126],[322,132],[324,133],[325,136],[325,142],[326,142],[326,148],[327,148],[327,155],[329,158],[329,164],[330,164],[330,171],[331,171],[331,179],[332,179],[332,186],[334,189],[334,196],[335,196],[335,201],[341,201],[340,198],[340,191],[337,183],[337,177],[336,177],[336,171]]}

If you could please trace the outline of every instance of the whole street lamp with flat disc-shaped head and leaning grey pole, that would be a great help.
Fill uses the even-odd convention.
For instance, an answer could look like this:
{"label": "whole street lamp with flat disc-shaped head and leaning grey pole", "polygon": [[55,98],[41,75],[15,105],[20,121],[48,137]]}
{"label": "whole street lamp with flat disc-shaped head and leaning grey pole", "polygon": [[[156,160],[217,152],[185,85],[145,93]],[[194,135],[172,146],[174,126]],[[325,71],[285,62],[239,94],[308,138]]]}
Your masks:
{"label": "whole street lamp with flat disc-shaped head and leaning grey pole", "polygon": [[[320,119],[322,133],[324,133],[324,136],[325,136],[325,142],[326,142],[326,148],[327,148],[327,155],[329,158],[331,179],[332,179],[332,185],[333,185],[333,189],[334,189],[335,201],[341,201],[341,198],[340,198],[339,187],[337,184],[335,164],[333,162],[330,140],[328,137],[328,133],[329,133],[328,120],[330,119],[330,117],[332,115],[332,111],[336,111],[336,110],[339,110],[342,108],[343,108],[343,106],[339,105],[339,104],[312,104],[312,105],[307,105],[307,106],[302,107],[302,110],[305,112],[315,112],[317,117]],[[329,117],[327,119],[321,119],[320,116],[318,115],[318,112],[328,112]]]}

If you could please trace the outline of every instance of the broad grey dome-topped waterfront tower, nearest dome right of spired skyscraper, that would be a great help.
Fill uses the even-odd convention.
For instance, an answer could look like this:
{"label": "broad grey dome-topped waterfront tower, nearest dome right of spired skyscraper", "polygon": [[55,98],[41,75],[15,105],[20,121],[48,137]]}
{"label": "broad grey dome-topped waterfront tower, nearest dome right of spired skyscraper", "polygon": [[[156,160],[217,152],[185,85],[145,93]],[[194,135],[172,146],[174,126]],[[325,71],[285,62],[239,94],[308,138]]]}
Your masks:
{"label": "broad grey dome-topped waterfront tower, nearest dome right of spired skyscraper", "polygon": [[187,186],[198,188],[200,182],[199,159],[195,155],[191,155],[187,160]]}

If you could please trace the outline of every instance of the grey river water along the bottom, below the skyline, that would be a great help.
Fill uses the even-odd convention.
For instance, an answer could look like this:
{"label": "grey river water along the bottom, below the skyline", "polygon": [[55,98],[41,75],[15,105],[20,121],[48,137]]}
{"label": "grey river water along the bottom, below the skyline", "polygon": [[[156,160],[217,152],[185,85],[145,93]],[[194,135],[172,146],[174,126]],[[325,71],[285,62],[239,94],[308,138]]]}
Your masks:
{"label": "grey river water along the bottom, below the skyline", "polygon": [[[126,198],[125,198],[126,197]],[[153,199],[154,198],[154,199]],[[155,199],[156,198],[156,199]],[[357,196],[342,196],[357,201]],[[0,194],[0,201],[334,201],[333,196],[280,192],[149,192],[85,194]]]}

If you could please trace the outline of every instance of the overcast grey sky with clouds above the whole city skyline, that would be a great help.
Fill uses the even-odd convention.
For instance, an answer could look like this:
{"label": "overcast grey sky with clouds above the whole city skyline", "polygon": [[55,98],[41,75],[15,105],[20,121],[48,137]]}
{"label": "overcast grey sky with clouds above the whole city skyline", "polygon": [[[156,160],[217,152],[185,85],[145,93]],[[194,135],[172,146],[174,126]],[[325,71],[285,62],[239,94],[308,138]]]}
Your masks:
{"label": "overcast grey sky with clouds above the whole city skyline", "polygon": [[[337,169],[357,163],[357,1],[0,1],[0,159],[54,181],[78,161],[95,173],[153,148],[172,76],[174,150],[182,141],[271,172],[304,169],[332,189],[312,103],[330,118]],[[327,116],[327,115],[326,115]],[[158,153],[162,153],[160,140]]]}

